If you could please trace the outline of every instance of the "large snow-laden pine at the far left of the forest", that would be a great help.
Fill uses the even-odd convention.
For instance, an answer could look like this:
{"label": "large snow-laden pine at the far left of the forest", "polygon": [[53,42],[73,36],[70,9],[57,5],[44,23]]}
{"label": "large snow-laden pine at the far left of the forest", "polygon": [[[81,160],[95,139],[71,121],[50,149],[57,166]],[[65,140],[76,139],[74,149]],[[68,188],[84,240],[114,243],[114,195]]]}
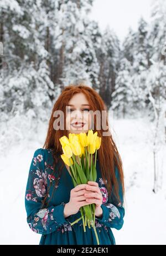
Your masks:
{"label": "large snow-laden pine at the far left of the forest", "polygon": [[[39,106],[49,107],[53,83],[49,78],[46,63],[49,55],[41,33],[46,28],[43,19],[39,19],[45,16],[41,6],[34,1],[11,1],[10,4],[13,9],[7,8],[6,3],[6,8],[1,5],[4,57],[7,56],[8,64],[8,76],[4,79],[2,68],[1,79],[3,111],[13,116],[16,112],[24,114]],[[38,100],[34,96],[38,96]],[[42,118],[43,115],[39,116]]]}

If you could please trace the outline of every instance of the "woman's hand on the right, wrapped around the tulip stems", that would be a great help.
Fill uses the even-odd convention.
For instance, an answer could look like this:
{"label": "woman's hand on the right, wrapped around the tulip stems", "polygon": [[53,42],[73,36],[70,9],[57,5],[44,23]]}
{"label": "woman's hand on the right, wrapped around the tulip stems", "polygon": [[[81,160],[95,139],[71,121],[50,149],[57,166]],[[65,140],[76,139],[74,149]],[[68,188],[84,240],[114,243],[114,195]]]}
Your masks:
{"label": "woman's hand on the right, wrapped around the tulip stems", "polygon": [[86,202],[89,204],[93,204],[95,203],[95,215],[97,217],[101,217],[102,215],[102,208],[101,208],[101,204],[102,204],[102,193],[100,191],[100,188],[98,188],[98,183],[97,182],[87,182],[86,185],[86,190],[87,192],[85,192],[85,197]]}

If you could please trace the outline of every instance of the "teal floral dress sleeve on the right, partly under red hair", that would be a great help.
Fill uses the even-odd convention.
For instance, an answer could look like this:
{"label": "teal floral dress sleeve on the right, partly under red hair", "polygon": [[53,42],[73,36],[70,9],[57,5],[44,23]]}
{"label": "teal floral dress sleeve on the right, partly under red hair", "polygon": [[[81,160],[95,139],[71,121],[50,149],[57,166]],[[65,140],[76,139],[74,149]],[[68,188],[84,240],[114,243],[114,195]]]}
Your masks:
{"label": "teal floral dress sleeve on the right, partly under red hair", "polygon": [[119,194],[121,202],[116,202],[115,193],[113,193],[114,188],[112,188],[111,197],[110,200],[108,200],[108,203],[101,204],[102,217],[96,217],[96,219],[99,223],[104,224],[107,227],[121,229],[124,222],[123,217],[125,216],[125,208],[123,208],[122,184],[120,182],[117,167],[115,168],[115,172],[119,184]]}

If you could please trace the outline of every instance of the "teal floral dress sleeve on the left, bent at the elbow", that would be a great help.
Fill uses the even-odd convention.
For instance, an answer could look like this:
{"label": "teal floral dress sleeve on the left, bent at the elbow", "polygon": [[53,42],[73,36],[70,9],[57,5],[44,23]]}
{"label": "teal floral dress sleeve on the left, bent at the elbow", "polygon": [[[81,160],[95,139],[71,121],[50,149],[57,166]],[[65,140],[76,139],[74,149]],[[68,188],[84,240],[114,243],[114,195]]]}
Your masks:
{"label": "teal floral dress sleeve on the left, bent at the elbow", "polygon": [[27,222],[30,229],[39,234],[49,234],[60,225],[70,224],[69,219],[64,218],[64,202],[60,205],[42,208],[42,200],[47,191],[44,151],[45,149],[39,148],[34,152],[25,192]]}

